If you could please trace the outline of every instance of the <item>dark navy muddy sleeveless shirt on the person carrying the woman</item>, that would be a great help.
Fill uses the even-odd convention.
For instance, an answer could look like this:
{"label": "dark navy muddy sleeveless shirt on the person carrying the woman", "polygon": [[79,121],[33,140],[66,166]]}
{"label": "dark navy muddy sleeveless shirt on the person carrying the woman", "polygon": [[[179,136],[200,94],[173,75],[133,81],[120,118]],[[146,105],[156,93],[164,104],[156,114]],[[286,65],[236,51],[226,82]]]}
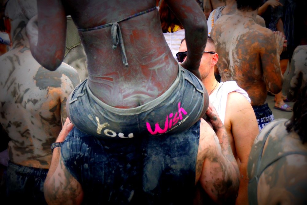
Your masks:
{"label": "dark navy muddy sleeveless shirt on the person carrying the woman", "polygon": [[192,204],[200,120],[183,132],[117,140],[73,127],[61,159],[85,204]]}

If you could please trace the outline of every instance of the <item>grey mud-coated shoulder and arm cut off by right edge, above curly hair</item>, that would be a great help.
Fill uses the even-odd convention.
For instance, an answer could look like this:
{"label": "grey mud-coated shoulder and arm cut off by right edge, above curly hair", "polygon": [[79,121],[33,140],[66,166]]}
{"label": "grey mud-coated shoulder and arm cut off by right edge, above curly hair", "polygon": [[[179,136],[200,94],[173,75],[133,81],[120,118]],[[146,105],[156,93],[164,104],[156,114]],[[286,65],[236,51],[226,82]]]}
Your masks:
{"label": "grey mud-coated shoulder and arm cut off by right edge, above curly hair", "polygon": [[307,81],[307,45],[300,45],[294,50],[290,69],[285,79],[285,92],[289,100],[295,100],[298,89]]}

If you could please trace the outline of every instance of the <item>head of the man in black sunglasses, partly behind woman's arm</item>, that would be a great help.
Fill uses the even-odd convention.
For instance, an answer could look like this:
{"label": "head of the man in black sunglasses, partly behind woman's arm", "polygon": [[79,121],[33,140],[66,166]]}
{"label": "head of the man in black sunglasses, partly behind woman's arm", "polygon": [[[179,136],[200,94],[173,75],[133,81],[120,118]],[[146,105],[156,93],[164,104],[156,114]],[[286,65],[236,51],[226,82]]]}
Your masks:
{"label": "head of the man in black sunglasses, partly behind woman's arm", "polygon": [[[177,53],[177,60],[179,62],[182,60],[185,61],[186,51],[187,45],[185,43],[185,39],[183,39],[179,47],[179,52]],[[210,72],[212,72],[212,74],[214,75],[214,66],[216,65],[218,59],[219,55],[215,53],[214,40],[212,37],[208,36],[207,44],[203,56],[201,57],[199,66],[199,72],[202,79],[206,78]]]}

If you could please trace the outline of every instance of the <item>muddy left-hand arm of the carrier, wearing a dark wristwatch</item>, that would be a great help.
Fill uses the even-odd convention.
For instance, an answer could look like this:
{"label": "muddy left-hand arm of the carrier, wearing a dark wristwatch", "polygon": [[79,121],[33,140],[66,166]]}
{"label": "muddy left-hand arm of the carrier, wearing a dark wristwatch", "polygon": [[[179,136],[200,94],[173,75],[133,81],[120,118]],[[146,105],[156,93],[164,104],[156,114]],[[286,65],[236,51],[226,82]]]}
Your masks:
{"label": "muddy left-hand arm of the carrier, wearing a dark wristwatch", "polygon": [[[56,142],[63,142],[73,125],[67,118]],[[44,195],[48,204],[81,204],[83,190],[80,183],[66,169],[61,148],[53,150],[51,165],[44,183]]]}

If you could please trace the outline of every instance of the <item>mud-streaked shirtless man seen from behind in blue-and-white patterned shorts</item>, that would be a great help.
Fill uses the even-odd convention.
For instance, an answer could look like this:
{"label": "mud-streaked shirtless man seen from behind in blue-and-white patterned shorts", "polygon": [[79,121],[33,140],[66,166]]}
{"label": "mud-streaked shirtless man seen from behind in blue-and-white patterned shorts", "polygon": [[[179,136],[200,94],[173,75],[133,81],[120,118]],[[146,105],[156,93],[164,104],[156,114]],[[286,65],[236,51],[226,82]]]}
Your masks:
{"label": "mud-streaked shirtless man seen from behind in blue-and-white patterned shorts", "polygon": [[220,56],[217,67],[221,80],[236,81],[248,93],[259,131],[274,120],[266,101],[267,88],[272,93],[282,89],[279,55],[284,42],[279,32],[256,24],[260,3],[237,0],[237,11],[220,17],[211,31]]}

